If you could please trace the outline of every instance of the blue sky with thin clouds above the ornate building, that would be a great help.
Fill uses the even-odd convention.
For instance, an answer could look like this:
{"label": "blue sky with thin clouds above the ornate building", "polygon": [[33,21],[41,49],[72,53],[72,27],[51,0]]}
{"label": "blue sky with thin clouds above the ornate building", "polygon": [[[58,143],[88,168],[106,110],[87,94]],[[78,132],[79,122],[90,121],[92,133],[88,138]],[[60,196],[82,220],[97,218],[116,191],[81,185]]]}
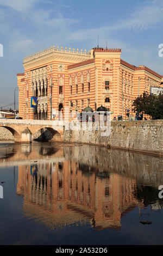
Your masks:
{"label": "blue sky with thin clouds above the ornate building", "polygon": [[0,0],[0,24],[3,109],[14,102],[23,57],[53,45],[90,50],[98,37],[100,47],[121,48],[126,62],[163,75],[163,0]]}

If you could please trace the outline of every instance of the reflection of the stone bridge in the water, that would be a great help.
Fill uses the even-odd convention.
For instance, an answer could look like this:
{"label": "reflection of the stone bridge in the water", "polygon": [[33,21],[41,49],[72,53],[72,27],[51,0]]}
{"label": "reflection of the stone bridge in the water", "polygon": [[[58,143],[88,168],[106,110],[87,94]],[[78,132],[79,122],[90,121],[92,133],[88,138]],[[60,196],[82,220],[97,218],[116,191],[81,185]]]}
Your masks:
{"label": "reflection of the stone bridge in the water", "polygon": [[64,150],[58,145],[48,143],[8,144],[0,148],[0,168],[7,166],[25,166],[26,164],[65,161]]}

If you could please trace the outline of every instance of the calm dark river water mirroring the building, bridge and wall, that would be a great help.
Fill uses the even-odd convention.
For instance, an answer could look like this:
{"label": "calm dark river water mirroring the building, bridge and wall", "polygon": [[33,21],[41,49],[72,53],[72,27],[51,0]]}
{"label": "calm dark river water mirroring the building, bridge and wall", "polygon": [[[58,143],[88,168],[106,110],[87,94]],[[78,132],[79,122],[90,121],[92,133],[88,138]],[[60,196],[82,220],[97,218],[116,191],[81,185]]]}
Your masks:
{"label": "calm dark river water mirroring the building, bridge and wall", "polygon": [[1,245],[163,243],[162,157],[93,145],[1,143],[0,185]]}

